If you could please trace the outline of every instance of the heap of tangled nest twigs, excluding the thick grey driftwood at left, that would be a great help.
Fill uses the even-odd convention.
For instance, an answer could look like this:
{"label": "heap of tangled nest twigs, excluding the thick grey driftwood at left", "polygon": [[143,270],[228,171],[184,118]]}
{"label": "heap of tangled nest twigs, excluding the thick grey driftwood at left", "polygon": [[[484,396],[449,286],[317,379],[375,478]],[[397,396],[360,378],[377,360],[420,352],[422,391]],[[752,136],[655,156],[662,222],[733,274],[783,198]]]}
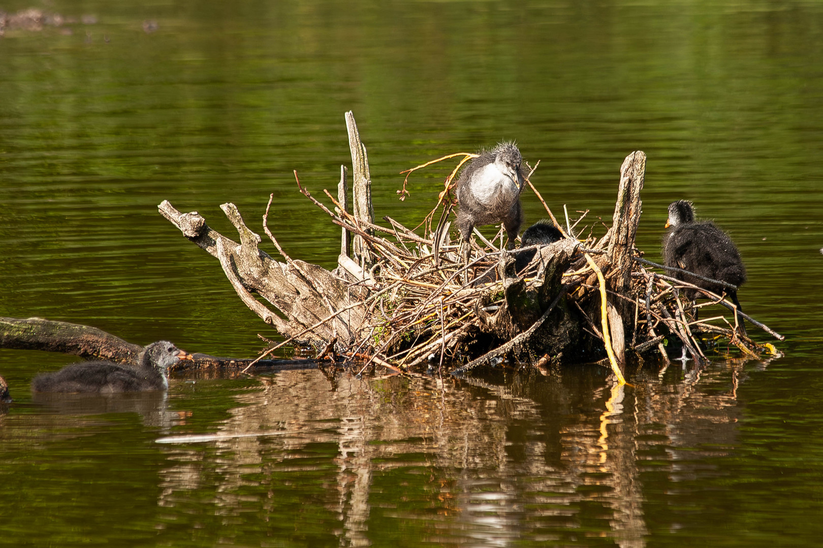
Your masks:
{"label": "heap of tangled nest twigs, excluding the thick grey driftwood at left", "polygon": [[[631,229],[633,225],[636,230],[639,221],[642,169],[639,184],[635,180],[634,211],[621,215],[621,201],[629,201],[632,183],[631,177],[622,177],[627,179],[626,189],[621,189],[626,196],[618,200],[615,225],[603,237],[574,237],[574,226],[586,212],[572,227],[567,219],[564,230],[532,186],[565,239],[507,251],[502,228],[491,241],[476,232],[467,264],[460,259],[459,244],[449,233],[453,203],[448,200],[448,191],[455,173],[457,169],[440,196],[439,223],[433,222],[435,208],[421,223],[422,235],[388,216],[384,217],[385,226],[357,219],[324,191],[332,201],[332,210],[298,180],[300,191],[344,229],[344,242],[346,233],[362,242],[360,260],[343,253],[338,268],[332,271],[346,285],[346,291],[356,295],[362,307],[362,314],[357,315],[360,323],[347,325],[348,340],[333,330],[324,344],[314,343],[320,358],[356,360],[362,364],[358,364],[361,371],[374,363],[395,371],[421,367],[442,371],[445,366],[465,373],[507,358],[511,363],[543,367],[561,358],[593,361],[605,355],[603,361],[608,361],[622,381],[621,372],[632,356],[642,359],[658,354],[667,360],[667,346],[686,348],[695,361],[707,360],[709,351],[725,352],[729,347],[748,357],[776,352],[770,344],[756,343],[735,325],[736,307],[725,296],[682,282],[674,277],[678,272],[673,270],[678,269],[642,258]],[[266,218],[266,233],[280,249],[265,227]],[[630,233],[631,242],[628,246],[623,242],[622,250],[629,260],[617,256],[621,223],[629,225],[623,232]],[[514,256],[528,250],[536,251],[535,256],[518,275]],[[622,287],[621,279],[627,281]],[[706,301],[697,305],[686,301],[681,295],[686,288],[700,292]],[[695,312],[705,306],[725,306],[728,314],[695,320]],[[740,314],[782,340],[765,325]],[[340,315],[335,317],[339,320]],[[299,340],[288,338],[266,354]]]}

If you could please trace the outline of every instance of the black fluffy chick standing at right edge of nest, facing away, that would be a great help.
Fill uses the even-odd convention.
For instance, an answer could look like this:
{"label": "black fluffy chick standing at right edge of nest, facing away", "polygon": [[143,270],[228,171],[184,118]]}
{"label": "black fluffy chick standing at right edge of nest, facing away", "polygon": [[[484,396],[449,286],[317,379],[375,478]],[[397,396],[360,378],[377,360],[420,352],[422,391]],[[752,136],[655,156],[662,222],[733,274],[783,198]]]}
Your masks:
{"label": "black fluffy chick standing at right edge of nest, facing away", "polygon": [[[704,278],[732,283],[738,288],[746,281],[746,267],[743,266],[737,246],[711,221],[695,222],[695,210],[691,202],[678,200],[669,205],[666,228],[668,232],[663,238],[663,259],[666,266],[688,270]],[[681,272],[674,272],[673,276],[718,295],[726,292],[737,308],[742,310],[740,302],[737,301],[737,291],[734,289]],[[692,300],[698,295],[694,289],[686,289],[685,293],[686,297]],[[737,316],[737,325],[746,333],[742,316]]]}

